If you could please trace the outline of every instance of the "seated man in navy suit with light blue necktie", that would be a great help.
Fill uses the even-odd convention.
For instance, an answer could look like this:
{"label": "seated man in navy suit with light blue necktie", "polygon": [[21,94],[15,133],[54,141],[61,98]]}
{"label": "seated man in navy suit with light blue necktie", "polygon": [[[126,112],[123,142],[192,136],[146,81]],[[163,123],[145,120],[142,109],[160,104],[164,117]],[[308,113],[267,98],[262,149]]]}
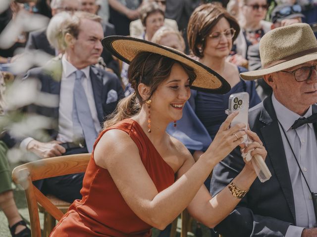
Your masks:
{"label": "seated man in navy suit with light blue necktie", "polygon": [[[39,90],[46,94],[50,106],[32,104],[30,113],[51,118],[47,130],[50,141],[25,138],[21,147],[40,158],[92,152],[104,118],[123,98],[119,79],[112,73],[91,65],[103,50],[101,18],[87,12],[75,12],[63,24],[65,53],[42,68],[31,69],[24,79],[39,79]],[[52,103],[52,101],[54,103]],[[60,199],[72,202],[81,198],[83,174],[65,175],[42,180],[37,187]]]}

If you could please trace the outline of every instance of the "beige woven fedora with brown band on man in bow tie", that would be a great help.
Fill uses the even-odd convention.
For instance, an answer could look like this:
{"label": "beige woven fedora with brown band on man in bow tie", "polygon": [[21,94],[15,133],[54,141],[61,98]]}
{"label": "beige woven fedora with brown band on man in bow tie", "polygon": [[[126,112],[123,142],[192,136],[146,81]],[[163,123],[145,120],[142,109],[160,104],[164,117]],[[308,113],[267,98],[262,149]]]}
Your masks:
{"label": "beige woven fedora with brown band on man in bow tie", "polygon": [[316,60],[317,40],[314,32],[306,23],[271,30],[260,40],[260,58],[263,69],[241,73],[242,79],[259,79],[266,74]]}

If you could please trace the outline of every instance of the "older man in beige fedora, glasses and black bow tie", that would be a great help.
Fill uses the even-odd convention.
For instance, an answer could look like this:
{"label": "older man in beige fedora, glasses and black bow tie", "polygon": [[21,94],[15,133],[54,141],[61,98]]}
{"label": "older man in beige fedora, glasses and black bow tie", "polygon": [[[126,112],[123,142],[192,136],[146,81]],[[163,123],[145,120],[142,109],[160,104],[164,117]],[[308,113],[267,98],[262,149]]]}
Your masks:
{"label": "older man in beige fedora, glasses and black bow tie", "polygon": [[[308,24],[280,27],[264,35],[260,55],[263,69],[240,76],[264,78],[273,90],[249,111],[250,129],[267,150],[272,177],[257,179],[214,230],[223,237],[316,237],[317,40]],[[214,168],[212,196],[243,163],[236,149]]]}

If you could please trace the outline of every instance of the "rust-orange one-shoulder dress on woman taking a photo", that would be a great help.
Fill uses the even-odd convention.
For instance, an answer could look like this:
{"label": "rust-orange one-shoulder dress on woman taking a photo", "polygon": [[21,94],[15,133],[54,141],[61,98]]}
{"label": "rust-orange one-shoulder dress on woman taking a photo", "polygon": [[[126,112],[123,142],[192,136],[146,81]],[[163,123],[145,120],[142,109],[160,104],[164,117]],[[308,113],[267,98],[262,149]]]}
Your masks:
{"label": "rust-orange one-shoulder dress on woman taking a photo", "polygon": [[[159,192],[174,183],[173,169],[161,158],[141,126],[133,119],[124,119],[102,131],[94,147],[110,129],[120,129],[129,134]],[[128,154],[129,151],[127,159]],[[80,192],[82,199],[72,203],[50,237],[151,237],[152,227],[126,204],[109,172],[96,165],[94,152]]]}

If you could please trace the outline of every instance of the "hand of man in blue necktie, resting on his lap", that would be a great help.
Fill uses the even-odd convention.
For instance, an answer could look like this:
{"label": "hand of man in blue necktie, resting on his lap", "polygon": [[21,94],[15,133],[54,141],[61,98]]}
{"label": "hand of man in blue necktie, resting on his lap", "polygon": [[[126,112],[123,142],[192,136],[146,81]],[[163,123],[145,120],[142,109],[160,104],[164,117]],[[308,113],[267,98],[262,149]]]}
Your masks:
{"label": "hand of man in blue necktie, resting on his lap", "polygon": [[32,140],[26,149],[41,158],[58,157],[66,152],[65,148],[59,145],[60,143],[57,141],[39,142]]}

